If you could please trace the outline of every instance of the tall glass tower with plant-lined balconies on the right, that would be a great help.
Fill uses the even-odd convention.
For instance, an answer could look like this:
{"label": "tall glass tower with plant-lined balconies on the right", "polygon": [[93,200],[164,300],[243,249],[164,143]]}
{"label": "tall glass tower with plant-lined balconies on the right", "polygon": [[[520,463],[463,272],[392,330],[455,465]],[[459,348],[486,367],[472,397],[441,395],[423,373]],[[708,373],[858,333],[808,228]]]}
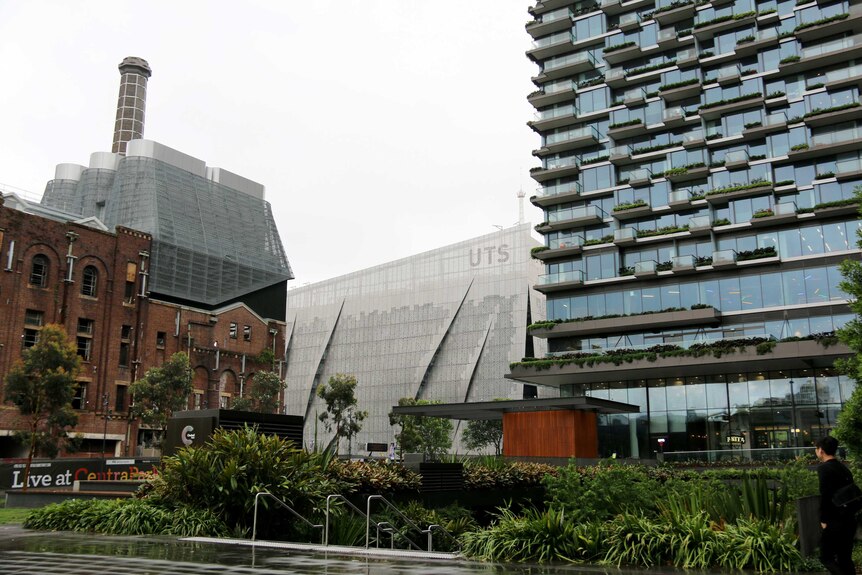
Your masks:
{"label": "tall glass tower with plant-lined balconies on the right", "polygon": [[660,439],[696,457],[810,446],[852,391],[832,370],[848,349],[816,340],[851,317],[838,265],[860,255],[862,6],[545,0],[529,12],[536,289],[560,321],[532,333],[551,357],[774,346],[589,370],[526,362],[509,377],[640,406],[602,419],[603,455],[652,456]]}

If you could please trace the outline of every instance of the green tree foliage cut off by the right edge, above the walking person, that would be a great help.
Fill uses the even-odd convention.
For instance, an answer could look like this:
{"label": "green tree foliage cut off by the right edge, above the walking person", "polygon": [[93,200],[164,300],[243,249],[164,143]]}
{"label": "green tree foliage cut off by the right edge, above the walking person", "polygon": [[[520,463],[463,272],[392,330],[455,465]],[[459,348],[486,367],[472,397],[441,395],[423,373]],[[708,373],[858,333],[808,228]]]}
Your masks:
{"label": "green tree foliage cut off by the right edge, above the walking person", "polygon": [[[862,202],[862,187],[855,190],[855,198]],[[856,245],[862,247],[862,234],[856,232]],[[847,344],[853,355],[835,362],[839,372],[856,382],[856,389],[844,404],[833,435],[847,449],[851,457],[862,457],[862,262],[844,260],[840,266],[844,281],[840,287],[850,298],[850,309],[856,314],[838,330],[838,339]]]}

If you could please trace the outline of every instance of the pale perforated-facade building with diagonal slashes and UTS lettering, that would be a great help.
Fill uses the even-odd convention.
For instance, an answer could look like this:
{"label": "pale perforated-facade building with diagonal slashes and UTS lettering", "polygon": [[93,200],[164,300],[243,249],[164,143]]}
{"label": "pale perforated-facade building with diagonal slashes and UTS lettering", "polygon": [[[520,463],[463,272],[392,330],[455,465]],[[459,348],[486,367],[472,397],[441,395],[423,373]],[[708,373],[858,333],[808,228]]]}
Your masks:
{"label": "pale perforated-facade building with diagonal slashes and UTS lettering", "polygon": [[536,397],[505,374],[510,362],[544,353],[527,333],[544,316],[544,297],[531,289],[542,271],[529,255],[538,245],[520,225],[289,290],[285,403],[305,416],[306,439],[328,440],[316,390],[337,373],[356,376],[358,408],[368,412],[354,451],[394,441],[388,415],[402,397]]}

